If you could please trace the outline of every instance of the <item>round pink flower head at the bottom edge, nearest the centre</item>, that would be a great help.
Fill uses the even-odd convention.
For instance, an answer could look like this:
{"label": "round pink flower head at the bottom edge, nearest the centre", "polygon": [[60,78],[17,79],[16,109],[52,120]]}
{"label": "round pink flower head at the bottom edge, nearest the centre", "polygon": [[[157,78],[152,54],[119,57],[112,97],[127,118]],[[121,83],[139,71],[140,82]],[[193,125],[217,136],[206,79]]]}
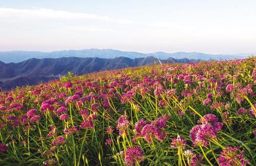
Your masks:
{"label": "round pink flower head at the bottom edge, nearest the centre", "polygon": [[125,154],[125,162],[127,166],[134,166],[138,165],[140,162],[143,161],[143,151],[142,149],[137,146],[131,146],[126,149],[126,154]]}

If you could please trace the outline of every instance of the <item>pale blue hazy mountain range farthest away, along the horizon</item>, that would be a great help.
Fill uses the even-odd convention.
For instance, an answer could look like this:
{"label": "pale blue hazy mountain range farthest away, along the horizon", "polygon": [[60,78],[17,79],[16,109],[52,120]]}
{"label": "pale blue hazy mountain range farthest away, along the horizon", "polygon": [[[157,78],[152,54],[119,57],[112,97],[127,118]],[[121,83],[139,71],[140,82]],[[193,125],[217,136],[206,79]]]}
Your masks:
{"label": "pale blue hazy mountain range farthest away, along the horizon", "polygon": [[250,55],[256,55],[256,53],[242,53],[242,54],[204,54],[198,52],[176,52],[176,53],[165,53],[165,52],[155,52],[155,53],[139,53],[139,52],[128,52],[119,51],[113,49],[84,49],[84,50],[63,50],[63,51],[53,51],[53,52],[39,52],[39,51],[4,51],[0,52],[0,61],[9,62],[22,62],[31,58],[62,58],[62,57],[79,57],[79,58],[117,58],[117,57],[127,57],[130,59],[135,58],[146,58],[148,56],[156,55],[160,59],[168,59],[172,57],[174,59],[201,59],[201,60],[230,60],[234,58],[243,59]]}

